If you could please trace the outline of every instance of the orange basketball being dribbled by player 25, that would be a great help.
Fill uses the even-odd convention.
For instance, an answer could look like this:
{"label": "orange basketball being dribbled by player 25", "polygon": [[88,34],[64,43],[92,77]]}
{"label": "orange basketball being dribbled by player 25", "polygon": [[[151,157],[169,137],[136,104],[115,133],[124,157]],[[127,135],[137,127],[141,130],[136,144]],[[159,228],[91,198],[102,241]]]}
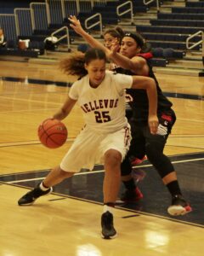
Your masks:
{"label": "orange basketball being dribbled by player 25", "polygon": [[65,125],[57,119],[46,119],[38,127],[38,137],[47,148],[61,147],[67,138]]}

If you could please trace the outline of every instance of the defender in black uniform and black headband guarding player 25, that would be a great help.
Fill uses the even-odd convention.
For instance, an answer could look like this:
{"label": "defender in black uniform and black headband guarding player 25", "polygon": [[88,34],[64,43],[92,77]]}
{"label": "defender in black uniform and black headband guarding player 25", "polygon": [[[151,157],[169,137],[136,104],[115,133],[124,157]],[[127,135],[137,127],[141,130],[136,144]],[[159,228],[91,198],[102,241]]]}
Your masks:
{"label": "defender in black uniform and black headband guarding player 25", "polygon": [[[122,162],[122,179],[126,191],[122,195],[123,201],[135,201],[139,197],[139,189],[133,181],[131,159],[144,159],[146,155],[151,164],[159,172],[163,183],[172,195],[172,205],[167,212],[171,215],[184,215],[191,211],[189,203],[184,200],[178,185],[178,179],[174,167],[163,154],[167,143],[167,137],[171,133],[176,115],[172,109],[172,102],[162,94],[161,88],[150,65],[150,53],[141,54],[144,47],[144,39],[139,34],[127,33],[122,38],[120,54],[116,51],[111,55],[111,60],[121,67],[116,68],[116,73],[129,75],[149,76],[156,81],[157,89],[157,117],[159,126],[156,135],[150,133],[148,126],[148,98],[144,90],[127,90],[128,104],[132,109],[131,118],[128,119],[132,130],[131,147],[125,160]],[[122,68],[124,67],[124,68]]]}

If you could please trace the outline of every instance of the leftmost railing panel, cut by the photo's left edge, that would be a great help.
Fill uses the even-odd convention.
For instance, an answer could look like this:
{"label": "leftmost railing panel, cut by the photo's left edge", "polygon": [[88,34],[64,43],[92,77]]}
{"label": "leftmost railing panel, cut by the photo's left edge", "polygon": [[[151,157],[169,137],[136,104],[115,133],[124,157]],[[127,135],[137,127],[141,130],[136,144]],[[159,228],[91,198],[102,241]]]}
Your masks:
{"label": "leftmost railing panel, cut by the photo's left edge", "polygon": [[16,41],[16,26],[15,26],[15,16],[14,15],[0,15],[0,27],[3,28],[3,32],[7,40]]}

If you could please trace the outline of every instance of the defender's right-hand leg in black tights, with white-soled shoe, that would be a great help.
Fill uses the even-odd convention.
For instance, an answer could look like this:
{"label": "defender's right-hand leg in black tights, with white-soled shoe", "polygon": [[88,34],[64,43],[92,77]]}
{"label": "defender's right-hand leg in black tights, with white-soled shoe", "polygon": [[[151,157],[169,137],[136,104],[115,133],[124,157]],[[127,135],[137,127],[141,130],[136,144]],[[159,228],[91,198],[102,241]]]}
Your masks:
{"label": "defender's right-hand leg in black tights, with white-soled shoe", "polygon": [[174,124],[174,119],[171,120],[171,117],[171,115],[161,114],[161,117],[159,117],[160,125],[157,135],[150,134],[148,127],[144,129],[146,154],[148,160],[150,160],[151,164],[156,168],[157,172],[159,172],[163,183],[167,186],[167,189],[172,195],[172,205],[168,207],[167,212],[171,215],[184,215],[191,211],[191,207],[189,203],[184,200],[173,164],[167,155],[163,154],[167,137]]}

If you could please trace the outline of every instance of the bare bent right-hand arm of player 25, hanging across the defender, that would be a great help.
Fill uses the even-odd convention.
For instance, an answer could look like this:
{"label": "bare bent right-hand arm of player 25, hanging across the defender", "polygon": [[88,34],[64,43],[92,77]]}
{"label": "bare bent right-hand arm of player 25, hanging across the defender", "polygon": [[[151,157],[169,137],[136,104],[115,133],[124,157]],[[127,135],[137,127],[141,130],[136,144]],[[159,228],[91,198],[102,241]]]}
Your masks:
{"label": "bare bent right-hand arm of player 25, hanging across the defender", "polygon": [[133,76],[132,88],[146,90],[149,100],[148,123],[150,126],[150,132],[152,134],[156,134],[159,123],[157,118],[157,90],[155,80],[142,76]]}

